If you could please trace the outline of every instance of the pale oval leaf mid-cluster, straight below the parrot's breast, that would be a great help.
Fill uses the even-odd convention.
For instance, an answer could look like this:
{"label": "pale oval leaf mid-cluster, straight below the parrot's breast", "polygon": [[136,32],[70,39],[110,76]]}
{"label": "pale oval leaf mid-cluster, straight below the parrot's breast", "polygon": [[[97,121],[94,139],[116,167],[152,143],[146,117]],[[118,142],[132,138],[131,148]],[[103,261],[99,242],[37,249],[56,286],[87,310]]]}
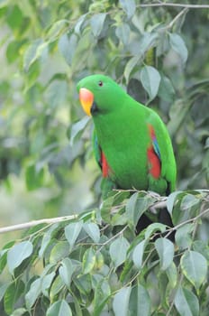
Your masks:
{"label": "pale oval leaf mid-cluster, straight below the parrot's breast", "polygon": [[129,242],[125,237],[118,237],[110,246],[110,256],[114,263],[114,266],[117,267],[122,265],[126,259],[126,253],[129,248]]}

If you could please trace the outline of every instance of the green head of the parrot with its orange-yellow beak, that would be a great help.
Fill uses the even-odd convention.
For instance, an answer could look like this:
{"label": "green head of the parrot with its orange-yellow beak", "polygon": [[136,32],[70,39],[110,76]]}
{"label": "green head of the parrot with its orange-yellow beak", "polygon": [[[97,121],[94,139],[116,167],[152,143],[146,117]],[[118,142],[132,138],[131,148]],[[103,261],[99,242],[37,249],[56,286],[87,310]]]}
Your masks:
{"label": "green head of the parrot with its orange-yellow beak", "polygon": [[[126,94],[123,89],[104,75],[92,75],[77,83],[80,103],[88,116],[106,114],[117,110],[119,99]],[[118,106],[117,106],[118,105]]]}

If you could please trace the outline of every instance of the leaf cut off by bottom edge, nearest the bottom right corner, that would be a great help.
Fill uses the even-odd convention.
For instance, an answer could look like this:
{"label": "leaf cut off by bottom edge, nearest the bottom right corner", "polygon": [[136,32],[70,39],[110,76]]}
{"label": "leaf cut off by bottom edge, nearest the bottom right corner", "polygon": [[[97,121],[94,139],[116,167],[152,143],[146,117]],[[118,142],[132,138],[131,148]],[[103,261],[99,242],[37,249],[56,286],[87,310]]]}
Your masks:
{"label": "leaf cut off by bottom edge, nearest the bottom right corner", "polygon": [[174,303],[180,316],[199,316],[198,299],[186,288],[178,287]]}

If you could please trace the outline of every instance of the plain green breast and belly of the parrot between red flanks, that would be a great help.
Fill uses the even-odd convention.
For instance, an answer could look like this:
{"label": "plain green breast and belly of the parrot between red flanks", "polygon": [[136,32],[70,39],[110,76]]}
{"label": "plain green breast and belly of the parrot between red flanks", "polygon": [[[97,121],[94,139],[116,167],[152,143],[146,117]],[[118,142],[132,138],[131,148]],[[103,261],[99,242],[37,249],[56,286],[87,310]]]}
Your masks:
{"label": "plain green breast and belly of the parrot between red flanks", "polygon": [[121,110],[116,117],[95,116],[94,122],[98,143],[110,168],[110,178],[123,189],[148,187],[146,147],[149,135],[144,117],[137,110],[135,115]]}

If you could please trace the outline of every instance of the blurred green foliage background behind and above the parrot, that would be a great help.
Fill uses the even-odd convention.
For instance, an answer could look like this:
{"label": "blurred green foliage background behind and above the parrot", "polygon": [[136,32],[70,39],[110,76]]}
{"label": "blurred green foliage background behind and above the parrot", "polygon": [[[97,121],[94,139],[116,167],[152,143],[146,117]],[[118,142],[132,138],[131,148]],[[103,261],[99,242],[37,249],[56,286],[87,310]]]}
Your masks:
{"label": "blurred green foliage background behind and above the parrot", "polygon": [[91,73],[113,77],[168,124],[177,190],[207,188],[209,10],[150,4],[0,1],[2,227],[98,205],[92,125],[76,90]]}

